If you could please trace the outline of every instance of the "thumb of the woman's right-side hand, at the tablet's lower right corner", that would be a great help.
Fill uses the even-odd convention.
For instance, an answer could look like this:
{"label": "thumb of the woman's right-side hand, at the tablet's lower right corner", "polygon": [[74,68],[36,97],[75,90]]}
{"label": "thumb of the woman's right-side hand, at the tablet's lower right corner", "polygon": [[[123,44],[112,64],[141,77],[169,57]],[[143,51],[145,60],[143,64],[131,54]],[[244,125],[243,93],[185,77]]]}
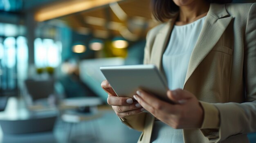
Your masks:
{"label": "thumb of the woman's right-side hand, at the tablet's lower right corner", "polygon": [[167,97],[175,103],[184,104],[186,103],[187,100],[193,97],[193,94],[191,94],[186,90],[176,89],[176,90],[168,90]]}

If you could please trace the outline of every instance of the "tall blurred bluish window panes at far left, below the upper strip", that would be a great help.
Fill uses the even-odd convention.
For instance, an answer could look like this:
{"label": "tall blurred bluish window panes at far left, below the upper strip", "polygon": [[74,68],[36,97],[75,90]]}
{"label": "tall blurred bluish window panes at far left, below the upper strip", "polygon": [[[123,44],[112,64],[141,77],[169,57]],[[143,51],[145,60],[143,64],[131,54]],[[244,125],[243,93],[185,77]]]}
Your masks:
{"label": "tall blurred bluish window panes at far left, below the upper strip", "polygon": [[0,90],[16,90],[27,77],[28,47],[23,36],[0,37]]}

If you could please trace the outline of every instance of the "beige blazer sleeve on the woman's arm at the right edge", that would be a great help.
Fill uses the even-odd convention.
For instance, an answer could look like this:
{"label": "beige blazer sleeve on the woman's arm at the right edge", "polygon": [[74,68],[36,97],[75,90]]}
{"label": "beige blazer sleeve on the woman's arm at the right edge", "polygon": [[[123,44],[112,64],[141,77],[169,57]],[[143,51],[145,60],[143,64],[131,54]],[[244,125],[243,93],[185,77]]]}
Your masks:
{"label": "beige blazer sleeve on the woman's arm at the right edge", "polygon": [[[247,17],[244,44],[245,103],[213,103],[219,111],[220,126],[216,130],[202,129],[211,143],[237,134],[256,132],[256,3]],[[241,95],[243,96],[243,95]],[[207,103],[205,103],[207,104]],[[208,103],[210,104],[210,103]],[[216,118],[216,117],[213,117]]]}

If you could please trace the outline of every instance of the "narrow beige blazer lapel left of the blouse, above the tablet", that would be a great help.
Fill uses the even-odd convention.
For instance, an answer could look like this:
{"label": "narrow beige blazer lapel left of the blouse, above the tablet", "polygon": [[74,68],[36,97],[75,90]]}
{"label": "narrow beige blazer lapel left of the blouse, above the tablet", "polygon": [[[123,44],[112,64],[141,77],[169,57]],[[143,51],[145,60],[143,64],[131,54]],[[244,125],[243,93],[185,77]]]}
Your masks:
{"label": "narrow beige blazer lapel left of the blouse, above the tablet", "polygon": [[165,24],[164,27],[159,31],[155,37],[155,42],[153,44],[150,63],[155,64],[159,70],[162,70],[162,55],[166,49],[167,43],[170,38],[173,25],[176,21],[177,15],[171,19],[168,24]]}

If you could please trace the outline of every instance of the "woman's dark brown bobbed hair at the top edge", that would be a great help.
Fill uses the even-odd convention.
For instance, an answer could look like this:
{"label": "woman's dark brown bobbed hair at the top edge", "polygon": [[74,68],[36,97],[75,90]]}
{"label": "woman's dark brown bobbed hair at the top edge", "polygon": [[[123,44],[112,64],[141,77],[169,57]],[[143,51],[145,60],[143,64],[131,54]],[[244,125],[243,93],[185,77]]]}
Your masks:
{"label": "woman's dark brown bobbed hair at the top edge", "polygon": [[[231,3],[232,0],[206,0],[209,3],[226,4]],[[179,7],[173,0],[151,0],[152,14],[154,18],[160,22],[165,22],[167,19],[173,17]]]}

